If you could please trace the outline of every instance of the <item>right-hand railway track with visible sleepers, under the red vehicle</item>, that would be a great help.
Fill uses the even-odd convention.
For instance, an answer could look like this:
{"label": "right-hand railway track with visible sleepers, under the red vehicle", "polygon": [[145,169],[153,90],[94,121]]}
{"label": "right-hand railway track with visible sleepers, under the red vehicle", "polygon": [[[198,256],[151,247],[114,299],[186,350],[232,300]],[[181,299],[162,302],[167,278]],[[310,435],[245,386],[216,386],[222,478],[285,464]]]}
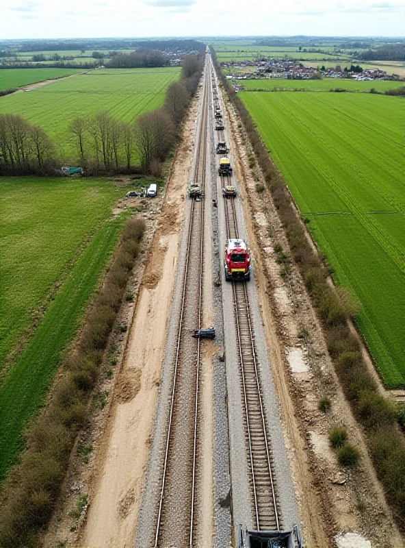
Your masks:
{"label": "right-hand railway track with visible sleepers, under the red vehicle", "polygon": [[[224,180],[221,177],[221,185]],[[238,238],[235,199],[224,199],[226,234]],[[237,333],[237,353],[243,395],[246,448],[254,525],[258,531],[280,530],[280,516],[274,479],[274,463],[267,433],[267,419],[261,395],[261,379],[246,283],[231,282]]]}

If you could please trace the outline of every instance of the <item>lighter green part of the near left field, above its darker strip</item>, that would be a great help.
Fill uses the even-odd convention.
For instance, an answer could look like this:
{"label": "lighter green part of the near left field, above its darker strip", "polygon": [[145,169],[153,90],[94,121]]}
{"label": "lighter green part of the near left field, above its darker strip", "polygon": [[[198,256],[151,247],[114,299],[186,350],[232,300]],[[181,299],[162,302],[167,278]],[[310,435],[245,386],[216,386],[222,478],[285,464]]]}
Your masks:
{"label": "lighter green part of the near left field, above its darker strip", "polygon": [[[122,193],[123,191],[121,191]],[[18,336],[120,196],[97,179],[2,177],[0,370]]]}

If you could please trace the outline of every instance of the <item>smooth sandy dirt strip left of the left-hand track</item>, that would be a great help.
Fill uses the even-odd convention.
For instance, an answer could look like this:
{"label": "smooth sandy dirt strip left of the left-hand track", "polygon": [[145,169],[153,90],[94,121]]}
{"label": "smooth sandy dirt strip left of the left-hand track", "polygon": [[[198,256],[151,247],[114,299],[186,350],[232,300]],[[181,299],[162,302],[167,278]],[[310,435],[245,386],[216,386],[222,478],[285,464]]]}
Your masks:
{"label": "smooth sandy dirt strip left of the left-hand track", "polygon": [[[157,223],[152,221],[155,234],[151,234],[138,300],[128,318],[129,334],[122,337],[123,358],[105,395],[106,412],[89,427],[86,439],[90,437],[94,446],[90,464],[75,462],[71,467],[45,546],[66,540],[70,546],[97,548],[134,543],[192,165],[196,101],[198,97],[185,123]],[[149,213],[151,219],[155,213]],[[86,508],[77,519],[80,497]]]}

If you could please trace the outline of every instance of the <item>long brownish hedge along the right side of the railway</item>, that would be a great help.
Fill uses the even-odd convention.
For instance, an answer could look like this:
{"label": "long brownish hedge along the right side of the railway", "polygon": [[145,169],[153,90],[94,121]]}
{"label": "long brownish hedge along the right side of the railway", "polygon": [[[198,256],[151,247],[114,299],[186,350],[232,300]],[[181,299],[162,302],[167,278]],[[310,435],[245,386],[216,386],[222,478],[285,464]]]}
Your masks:
{"label": "long brownish hedge along the right side of the railway", "polygon": [[400,530],[405,532],[405,439],[398,425],[399,410],[393,401],[378,393],[376,383],[363,359],[358,338],[350,332],[349,321],[355,313],[352,303],[341,288],[330,284],[327,266],[315,251],[316,247],[311,246],[291,193],[272,162],[252,116],[228,84],[213,47],[210,46],[209,49],[218,78],[239,114],[263,171],[291,254],[321,321],[335,371],[352,411],[365,431],[369,454],[384,487],[394,519]]}

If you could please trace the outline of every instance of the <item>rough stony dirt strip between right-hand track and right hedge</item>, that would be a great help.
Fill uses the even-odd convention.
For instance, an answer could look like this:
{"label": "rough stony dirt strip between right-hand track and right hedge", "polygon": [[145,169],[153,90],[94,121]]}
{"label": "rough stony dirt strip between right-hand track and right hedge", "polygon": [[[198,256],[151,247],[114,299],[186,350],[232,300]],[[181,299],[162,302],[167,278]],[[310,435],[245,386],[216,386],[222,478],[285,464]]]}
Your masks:
{"label": "rough stony dirt strip between right-hand track and right hedge", "polygon": [[[239,151],[237,172],[244,182],[241,200],[248,221],[250,247],[270,351],[283,427],[296,485],[300,516],[309,547],[332,546],[338,532],[357,532],[373,547],[405,545],[393,522],[367,454],[361,428],[350,410],[328,357],[322,328],[295,266],[282,277],[274,245],[289,255],[287,238],[258,166],[249,167],[251,153],[237,114],[228,103],[233,138]],[[327,396],[330,412],[319,411],[319,399]],[[335,424],[347,427],[349,438],[361,450],[354,471],[341,469],[330,448],[328,432]]]}

